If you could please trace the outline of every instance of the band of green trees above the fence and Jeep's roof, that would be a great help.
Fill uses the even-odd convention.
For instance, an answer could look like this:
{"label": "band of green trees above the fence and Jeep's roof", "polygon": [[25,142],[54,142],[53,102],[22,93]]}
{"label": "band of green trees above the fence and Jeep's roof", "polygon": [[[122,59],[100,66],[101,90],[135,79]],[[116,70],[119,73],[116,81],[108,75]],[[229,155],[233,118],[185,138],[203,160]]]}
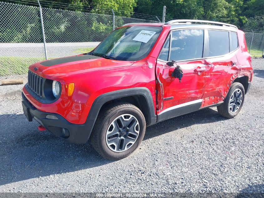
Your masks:
{"label": "band of green trees above the fence and Jeep's roof", "polygon": [[[11,0],[4,2],[13,3]],[[19,0],[18,0],[19,1]],[[202,19],[232,23],[241,28],[263,29],[264,0],[39,0],[43,8],[74,10],[132,17],[133,13],[162,16],[166,9],[166,21],[171,19]],[[37,2],[22,1],[19,4],[38,6]],[[140,14],[139,14],[140,15]],[[137,17],[134,14],[133,17]],[[139,18],[142,17],[138,16]],[[107,18],[107,17],[106,17]],[[152,19],[155,20],[155,17]],[[102,19],[100,19],[102,20]],[[108,19],[111,20],[111,19]],[[122,20],[116,24],[122,25]]]}

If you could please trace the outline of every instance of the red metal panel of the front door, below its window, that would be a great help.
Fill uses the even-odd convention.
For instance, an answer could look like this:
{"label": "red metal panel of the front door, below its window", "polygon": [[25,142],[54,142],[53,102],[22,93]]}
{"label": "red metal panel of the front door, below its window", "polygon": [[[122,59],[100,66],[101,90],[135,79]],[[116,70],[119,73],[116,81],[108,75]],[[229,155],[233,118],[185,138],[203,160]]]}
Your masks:
{"label": "red metal panel of the front door, below its window", "polygon": [[172,77],[176,64],[168,66],[166,62],[157,60],[156,74],[163,87],[162,101],[160,83],[156,82],[158,113],[178,104],[201,99],[204,93],[206,70],[208,67],[205,60],[180,62],[177,65],[181,67],[183,72],[181,82],[179,79]]}

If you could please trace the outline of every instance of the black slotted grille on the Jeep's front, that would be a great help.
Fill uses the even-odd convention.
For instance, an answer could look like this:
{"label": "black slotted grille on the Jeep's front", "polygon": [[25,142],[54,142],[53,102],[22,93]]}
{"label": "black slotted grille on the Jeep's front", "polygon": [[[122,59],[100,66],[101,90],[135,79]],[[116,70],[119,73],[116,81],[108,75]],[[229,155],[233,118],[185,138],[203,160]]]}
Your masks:
{"label": "black slotted grille on the Jeep's front", "polygon": [[28,70],[27,85],[35,94],[42,98],[43,78]]}

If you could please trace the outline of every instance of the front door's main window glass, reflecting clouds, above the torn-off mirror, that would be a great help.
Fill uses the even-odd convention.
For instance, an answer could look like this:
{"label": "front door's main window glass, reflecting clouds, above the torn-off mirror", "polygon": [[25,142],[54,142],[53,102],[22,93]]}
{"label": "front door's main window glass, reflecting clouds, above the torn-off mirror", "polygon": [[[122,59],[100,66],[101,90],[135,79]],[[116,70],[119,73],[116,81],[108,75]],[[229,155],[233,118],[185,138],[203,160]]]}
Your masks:
{"label": "front door's main window glass, reflecting clouds, above the torn-off mirror", "polygon": [[204,30],[190,29],[172,32],[170,60],[202,58]]}

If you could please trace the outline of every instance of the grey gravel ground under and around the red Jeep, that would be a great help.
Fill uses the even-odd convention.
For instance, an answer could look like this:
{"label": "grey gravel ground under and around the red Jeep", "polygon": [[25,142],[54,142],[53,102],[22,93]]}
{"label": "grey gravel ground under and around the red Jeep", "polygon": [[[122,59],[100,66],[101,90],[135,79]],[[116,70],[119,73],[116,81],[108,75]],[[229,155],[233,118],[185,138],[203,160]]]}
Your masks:
{"label": "grey gravel ground under and around the red Jeep", "polygon": [[[22,114],[23,85],[0,87],[0,192],[264,193],[264,59],[242,111],[216,108],[147,128],[140,148],[119,161],[37,130]],[[25,79],[26,81],[26,79]]]}

